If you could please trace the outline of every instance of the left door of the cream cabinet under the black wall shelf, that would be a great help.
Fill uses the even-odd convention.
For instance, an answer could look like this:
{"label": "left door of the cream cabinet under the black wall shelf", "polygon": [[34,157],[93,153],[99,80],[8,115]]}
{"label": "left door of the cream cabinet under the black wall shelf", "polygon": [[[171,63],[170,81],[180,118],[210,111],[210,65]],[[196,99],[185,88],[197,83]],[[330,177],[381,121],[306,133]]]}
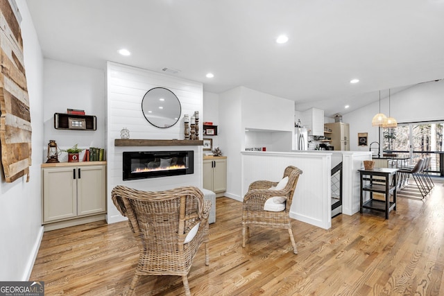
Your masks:
{"label": "left door of the cream cabinet under the black wall shelf", "polygon": [[76,168],[43,168],[42,182],[43,222],[76,217]]}

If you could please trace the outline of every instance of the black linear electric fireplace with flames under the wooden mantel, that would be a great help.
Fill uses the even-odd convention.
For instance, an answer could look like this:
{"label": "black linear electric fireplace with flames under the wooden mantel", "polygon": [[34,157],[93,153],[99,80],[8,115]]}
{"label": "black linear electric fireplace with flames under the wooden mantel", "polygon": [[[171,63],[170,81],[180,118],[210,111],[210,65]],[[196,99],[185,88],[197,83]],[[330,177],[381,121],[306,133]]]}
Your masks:
{"label": "black linear electric fireplace with flames under the wooden mantel", "polygon": [[123,153],[123,181],[194,173],[194,151]]}

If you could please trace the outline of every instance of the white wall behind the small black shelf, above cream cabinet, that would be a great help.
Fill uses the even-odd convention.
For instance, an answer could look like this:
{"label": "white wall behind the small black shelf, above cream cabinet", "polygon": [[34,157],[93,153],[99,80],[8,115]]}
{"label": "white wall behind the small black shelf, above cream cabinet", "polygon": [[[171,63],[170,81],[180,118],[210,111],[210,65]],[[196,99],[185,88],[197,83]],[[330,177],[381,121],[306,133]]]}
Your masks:
{"label": "white wall behind the small black shelf, above cream cabinet", "polygon": [[[105,72],[67,62],[44,59],[44,141],[56,140],[60,149],[105,148]],[[56,130],[54,113],[67,109],[85,110],[97,117],[97,130]],[[83,152],[85,153],[85,151]],[[83,159],[83,153],[80,159]],[[60,162],[67,162],[61,153]],[[43,162],[46,162],[44,150]]]}

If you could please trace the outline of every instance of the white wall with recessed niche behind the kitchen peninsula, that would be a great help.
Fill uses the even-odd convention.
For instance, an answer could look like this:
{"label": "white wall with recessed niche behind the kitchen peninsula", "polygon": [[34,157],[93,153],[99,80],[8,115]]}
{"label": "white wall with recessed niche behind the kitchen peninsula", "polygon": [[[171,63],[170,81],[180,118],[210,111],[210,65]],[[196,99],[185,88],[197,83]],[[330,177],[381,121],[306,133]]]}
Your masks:
{"label": "white wall with recessed niche behind the kitchen peninsula", "polygon": [[[264,137],[246,139],[246,128],[272,132],[271,137],[276,140],[275,147],[279,150],[284,149],[282,139],[287,138],[290,150],[294,102],[246,87],[237,87],[219,95],[219,119],[221,150],[228,157],[225,195],[241,200],[241,151],[246,148],[246,141],[249,146],[260,146],[264,141]],[[278,131],[287,134],[274,134]]]}

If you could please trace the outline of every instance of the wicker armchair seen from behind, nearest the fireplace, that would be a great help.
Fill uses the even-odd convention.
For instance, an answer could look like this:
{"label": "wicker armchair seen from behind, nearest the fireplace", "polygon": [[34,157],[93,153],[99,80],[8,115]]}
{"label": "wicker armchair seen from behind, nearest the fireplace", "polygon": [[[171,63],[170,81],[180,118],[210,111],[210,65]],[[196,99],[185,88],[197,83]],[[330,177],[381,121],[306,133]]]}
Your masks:
{"label": "wicker armchair seen from behind, nearest the fireplace", "polygon": [[185,295],[191,295],[187,276],[202,243],[205,265],[210,261],[207,243],[211,202],[204,202],[203,193],[194,186],[157,192],[116,186],[111,195],[120,213],[128,217],[139,243],[139,264],[128,295],[133,294],[141,275],[180,275]]}

